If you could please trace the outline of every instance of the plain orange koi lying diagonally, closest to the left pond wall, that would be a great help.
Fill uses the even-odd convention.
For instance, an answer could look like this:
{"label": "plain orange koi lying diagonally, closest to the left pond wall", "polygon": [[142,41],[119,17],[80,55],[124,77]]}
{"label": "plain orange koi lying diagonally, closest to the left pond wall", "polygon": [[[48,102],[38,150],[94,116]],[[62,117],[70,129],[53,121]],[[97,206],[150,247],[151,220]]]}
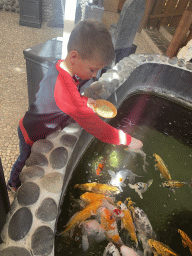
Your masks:
{"label": "plain orange koi lying diagonally, closest to the left pond wall", "polygon": [[70,236],[72,236],[74,227],[90,218],[91,215],[96,214],[97,210],[102,206],[102,204],[102,200],[94,201],[93,203],[88,204],[82,211],[75,213],[66,224],[67,227],[62,232],[62,235],[66,235],[66,233],[72,230],[70,234]]}

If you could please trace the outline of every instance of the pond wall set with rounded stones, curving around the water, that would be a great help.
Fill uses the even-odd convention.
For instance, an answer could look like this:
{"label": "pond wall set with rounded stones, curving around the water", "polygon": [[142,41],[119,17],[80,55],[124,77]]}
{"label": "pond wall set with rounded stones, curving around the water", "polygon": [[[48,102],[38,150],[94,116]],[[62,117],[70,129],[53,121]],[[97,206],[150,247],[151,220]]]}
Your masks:
{"label": "pond wall set with rounded stones, curving around the water", "polygon": [[[137,70],[149,65],[163,70],[167,84],[155,83],[151,86],[143,82],[150,72]],[[173,83],[179,69],[186,74],[188,84],[175,86]],[[139,74],[135,76],[135,72]],[[135,84],[137,77],[143,80]],[[151,92],[183,100],[191,106],[191,77],[191,62],[157,54],[132,54],[91,84],[85,90],[85,95],[93,99],[108,98],[118,108],[128,95]],[[1,233],[1,256],[54,256],[56,222],[67,185],[91,139],[93,136],[77,123],[72,123],[33,144],[30,158],[20,174],[21,187]]]}

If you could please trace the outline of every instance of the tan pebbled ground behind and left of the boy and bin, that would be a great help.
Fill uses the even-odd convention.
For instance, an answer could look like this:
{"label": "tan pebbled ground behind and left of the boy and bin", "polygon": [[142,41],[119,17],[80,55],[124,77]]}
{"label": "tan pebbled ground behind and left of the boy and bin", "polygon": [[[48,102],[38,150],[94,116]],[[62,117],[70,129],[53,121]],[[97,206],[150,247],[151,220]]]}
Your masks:
{"label": "tan pebbled ground behind and left of the boy and bin", "polygon": [[[19,14],[0,10],[0,157],[6,181],[19,152],[17,126],[28,108],[27,77],[23,50],[54,37],[59,28],[46,23],[40,29],[19,25]],[[136,53],[154,53],[140,34]]]}

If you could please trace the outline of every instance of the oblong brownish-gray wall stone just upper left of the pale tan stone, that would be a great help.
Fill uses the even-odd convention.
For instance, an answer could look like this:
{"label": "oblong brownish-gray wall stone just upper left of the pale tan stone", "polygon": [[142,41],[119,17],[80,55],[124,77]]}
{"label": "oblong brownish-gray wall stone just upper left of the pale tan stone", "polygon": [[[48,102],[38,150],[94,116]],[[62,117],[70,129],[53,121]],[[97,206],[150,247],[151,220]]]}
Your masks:
{"label": "oblong brownish-gray wall stone just upper left of the pale tan stone", "polygon": [[19,175],[19,179],[22,183],[26,182],[28,179],[37,179],[41,178],[44,175],[45,171],[39,166],[30,166],[23,168],[22,172]]}

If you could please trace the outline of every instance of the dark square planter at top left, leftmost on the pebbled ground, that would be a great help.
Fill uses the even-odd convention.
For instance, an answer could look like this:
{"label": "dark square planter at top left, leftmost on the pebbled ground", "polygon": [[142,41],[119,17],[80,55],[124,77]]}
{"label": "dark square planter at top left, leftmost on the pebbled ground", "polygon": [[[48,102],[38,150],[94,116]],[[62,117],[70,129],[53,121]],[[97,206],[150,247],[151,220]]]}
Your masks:
{"label": "dark square planter at top left, leftmost on the pebbled ground", "polygon": [[19,0],[19,25],[40,28],[42,22],[41,0]]}

